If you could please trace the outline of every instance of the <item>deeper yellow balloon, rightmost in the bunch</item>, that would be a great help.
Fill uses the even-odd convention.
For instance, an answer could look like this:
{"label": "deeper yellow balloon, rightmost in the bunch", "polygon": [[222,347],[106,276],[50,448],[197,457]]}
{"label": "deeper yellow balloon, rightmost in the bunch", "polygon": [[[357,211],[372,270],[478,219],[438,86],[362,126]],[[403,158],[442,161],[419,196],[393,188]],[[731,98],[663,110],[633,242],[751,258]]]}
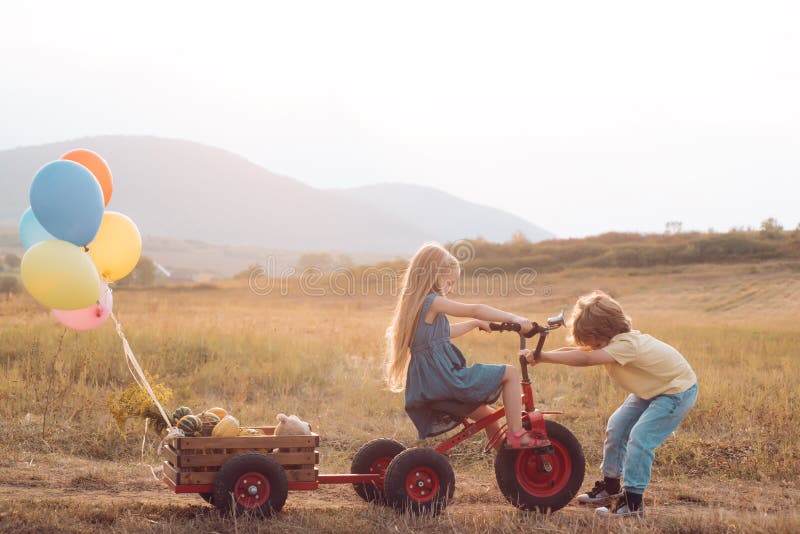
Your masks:
{"label": "deeper yellow balloon, rightmost in the bunch", "polygon": [[142,255],[142,236],[127,215],[106,211],[94,241],[89,243],[89,257],[104,282],[125,278]]}

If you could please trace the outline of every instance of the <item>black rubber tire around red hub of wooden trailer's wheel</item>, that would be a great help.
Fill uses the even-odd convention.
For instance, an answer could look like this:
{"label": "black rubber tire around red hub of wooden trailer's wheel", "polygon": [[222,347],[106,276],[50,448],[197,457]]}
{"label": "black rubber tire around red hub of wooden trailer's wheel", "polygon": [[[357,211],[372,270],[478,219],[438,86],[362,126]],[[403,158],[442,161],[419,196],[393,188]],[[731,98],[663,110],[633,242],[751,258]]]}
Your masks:
{"label": "black rubber tire around red hub of wooden trailer's wheel", "polygon": [[[269,481],[270,491],[264,504],[247,508],[234,497],[234,491],[239,477],[251,472],[265,477]],[[222,464],[214,478],[212,501],[226,514],[269,517],[281,511],[288,494],[289,481],[281,464],[260,452],[245,452]]]}

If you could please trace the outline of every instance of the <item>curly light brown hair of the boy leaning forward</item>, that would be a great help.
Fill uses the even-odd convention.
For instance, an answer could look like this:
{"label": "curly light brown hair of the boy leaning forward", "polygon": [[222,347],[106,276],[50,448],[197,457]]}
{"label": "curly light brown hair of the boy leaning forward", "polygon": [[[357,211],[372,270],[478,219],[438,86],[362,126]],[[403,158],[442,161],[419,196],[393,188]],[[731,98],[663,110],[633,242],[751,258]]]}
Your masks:
{"label": "curly light brown hair of the boy leaning forward", "polygon": [[617,334],[631,331],[631,318],[619,302],[603,291],[595,290],[578,297],[569,322],[572,342],[598,349],[608,345]]}

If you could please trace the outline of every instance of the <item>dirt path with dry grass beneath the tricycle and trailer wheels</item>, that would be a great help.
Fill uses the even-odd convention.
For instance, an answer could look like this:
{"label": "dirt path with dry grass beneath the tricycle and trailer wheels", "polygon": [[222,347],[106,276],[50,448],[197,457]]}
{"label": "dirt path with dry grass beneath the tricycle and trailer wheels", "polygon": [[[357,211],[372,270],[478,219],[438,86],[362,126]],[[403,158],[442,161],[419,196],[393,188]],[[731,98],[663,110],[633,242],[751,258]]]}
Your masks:
{"label": "dirt path with dry grass beneath the tricycle and trailer wheels", "polygon": [[[520,513],[488,477],[463,474],[445,514],[412,518],[367,505],[350,486],[292,492],[276,518],[219,516],[198,495],[176,495],[144,465],[49,456],[0,465],[3,532],[554,532],[606,531],[591,509],[571,504],[552,517]],[[587,480],[587,485],[590,481]],[[642,532],[791,532],[800,527],[796,487],[703,480],[655,484]],[[615,527],[616,529],[617,527]],[[624,529],[623,529],[624,530]]]}

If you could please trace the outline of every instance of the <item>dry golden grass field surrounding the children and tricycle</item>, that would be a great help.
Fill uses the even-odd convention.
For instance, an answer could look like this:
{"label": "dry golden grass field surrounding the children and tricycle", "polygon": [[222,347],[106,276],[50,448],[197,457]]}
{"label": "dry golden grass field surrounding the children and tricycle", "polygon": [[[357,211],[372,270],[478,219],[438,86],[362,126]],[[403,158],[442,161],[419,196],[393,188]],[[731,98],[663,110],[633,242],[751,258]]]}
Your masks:
{"label": "dry golden grass field surrounding the children and tricycle", "polygon": [[[154,479],[159,438],[143,441],[141,420],[115,426],[106,402],[131,378],[113,327],[67,332],[53,358],[63,328],[26,295],[0,297],[0,531],[798,532],[798,273],[786,262],[566,270],[540,275],[537,296],[466,299],[542,320],[601,288],[690,360],[698,404],[657,452],[646,517],[617,523],[577,505],[518,512],[497,489],[482,436],[452,451],[455,500],[437,518],[367,505],[347,486],[290,493],[270,520],[221,518]],[[325,473],[347,472],[375,437],[417,443],[402,396],[381,382],[390,296],[263,296],[233,280],[115,299],[143,366],[173,390],[170,410],[219,405],[251,425],[296,413],[321,436]],[[549,346],[561,342],[559,332]],[[475,332],[458,344],[471,361],[516,361],[512,335]],[[537,401],[563,410],[557,420],[582,442],[590,487],[624,394],[599,368],[539,366],[533,377]]]}

